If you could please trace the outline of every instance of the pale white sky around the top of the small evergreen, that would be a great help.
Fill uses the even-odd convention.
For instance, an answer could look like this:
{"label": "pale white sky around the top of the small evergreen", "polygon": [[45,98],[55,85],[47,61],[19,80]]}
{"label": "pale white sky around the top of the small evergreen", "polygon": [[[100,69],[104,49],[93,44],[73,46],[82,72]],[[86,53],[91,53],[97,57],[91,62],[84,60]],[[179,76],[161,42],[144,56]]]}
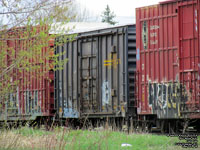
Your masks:
{"label": "pale white sky around the top of the small evergreen", "polygon": [[135,19],[135,8],[158,4],[165,0],[76,0],[94,15],[101,15],[108,4],[116,18],[124,23]]}

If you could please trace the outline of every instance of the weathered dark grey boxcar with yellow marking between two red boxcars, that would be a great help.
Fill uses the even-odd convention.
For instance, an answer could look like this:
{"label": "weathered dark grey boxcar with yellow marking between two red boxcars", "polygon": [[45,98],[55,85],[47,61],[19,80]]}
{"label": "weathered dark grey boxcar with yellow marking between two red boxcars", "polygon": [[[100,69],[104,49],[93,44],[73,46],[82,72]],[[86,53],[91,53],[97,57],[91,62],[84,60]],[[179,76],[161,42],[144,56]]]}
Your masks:
{"label": "weathered dark grey boxcar with yellow marking between two red boxcars", "polygon": [[135,25],[78,33],[55,53],[64,53],[59,60],[68,59],[55,71],[55,106],[61,118],[135,114]]}

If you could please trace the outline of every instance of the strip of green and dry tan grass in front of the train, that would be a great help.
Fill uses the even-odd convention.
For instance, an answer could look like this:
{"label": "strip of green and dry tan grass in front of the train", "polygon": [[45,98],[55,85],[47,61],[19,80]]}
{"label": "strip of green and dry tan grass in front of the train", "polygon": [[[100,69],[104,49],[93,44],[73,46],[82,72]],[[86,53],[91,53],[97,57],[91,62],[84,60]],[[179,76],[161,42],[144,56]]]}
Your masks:
{"label": "strip of green and dry tan grass in front of the train", "polygon": [[[28,127],[0,131],[0,149],[65,150],[181,150],[178,137],[151,134],[126,134],[109,130],[88,131],[55,128],[53,131]],[[128,143],[132,147],[121,147]],[[200,137],[198,137],[200,145]],[[200,148],[196,148],[200,149]]]}

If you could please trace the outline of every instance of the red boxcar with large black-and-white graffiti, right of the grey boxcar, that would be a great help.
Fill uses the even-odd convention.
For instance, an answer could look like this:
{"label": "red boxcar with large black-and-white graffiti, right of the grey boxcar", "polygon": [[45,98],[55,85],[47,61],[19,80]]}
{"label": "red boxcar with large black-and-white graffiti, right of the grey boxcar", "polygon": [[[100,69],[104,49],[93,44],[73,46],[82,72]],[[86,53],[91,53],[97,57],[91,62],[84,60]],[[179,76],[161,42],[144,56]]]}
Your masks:
{"label": "red boxcar with large black-and-white graffiti, right of the grey boxcar", "polygon": [[136,9],[137,112],[200,118],[200,0]]}

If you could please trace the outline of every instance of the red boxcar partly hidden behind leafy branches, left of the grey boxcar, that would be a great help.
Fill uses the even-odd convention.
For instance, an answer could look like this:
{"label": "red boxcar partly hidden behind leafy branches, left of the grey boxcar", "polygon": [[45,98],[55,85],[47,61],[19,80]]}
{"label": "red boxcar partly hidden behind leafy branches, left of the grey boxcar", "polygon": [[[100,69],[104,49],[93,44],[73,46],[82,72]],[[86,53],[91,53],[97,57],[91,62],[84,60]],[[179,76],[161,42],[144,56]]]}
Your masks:
{"label": "red boxcar partly hidden behind leafy branches, left of the grey boxcar", "polygon": [[[39,33],[43,30],[40,26],[34,27]],[[27,32],[26,27],[7,31],[6,38],[2,41],[8,49],[14,49],[15,57],[22,50],[29,50],[29,44],[36,42],[34,37],[24,39],[23,34]],[[37,44],[36,44],[37,45]],[[42,48],[41,55],[46,55],[49,48],[53,50],[54,40],[49,41],[48,47]],[[35,120],[37,117],[53,116],[54,115],[54,72],[47,70],[45,64],[52,64],[52,60],[44,60],[42,63],[39,60],[30,59],[32,65],[39,67],[37,71],[28,71],[22,69],[19,71],[14,67],[10,72],[13,75],[11,78],[14,81],[19,81],[15,92],[8,93],[8,99],[0,99],[0,121],[1,120]],[[44,57],[43,57],[44,58]],[[7,57],[7,65],[12,65],[12,59]],[[19,67],[19,66],[18,66]],[[45,74],[41,74],[45,72]]]}

